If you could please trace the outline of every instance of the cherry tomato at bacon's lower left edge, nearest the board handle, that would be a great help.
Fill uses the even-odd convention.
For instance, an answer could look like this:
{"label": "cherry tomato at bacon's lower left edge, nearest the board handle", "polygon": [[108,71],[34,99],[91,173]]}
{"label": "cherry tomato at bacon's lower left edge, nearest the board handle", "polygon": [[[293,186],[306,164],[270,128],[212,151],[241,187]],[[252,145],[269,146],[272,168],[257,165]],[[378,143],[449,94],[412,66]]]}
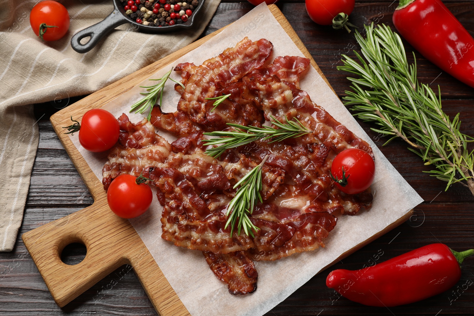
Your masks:
{"label": "cherry tomato at bacon's lower left edge, nearest the board handle", "polygon": [[110,183],[107,202],[112,212],[122,218],[133,218],[145,213],[151,205],[153,193],[141,179],[146,181],[142,176],[137,178],[122,174]]}

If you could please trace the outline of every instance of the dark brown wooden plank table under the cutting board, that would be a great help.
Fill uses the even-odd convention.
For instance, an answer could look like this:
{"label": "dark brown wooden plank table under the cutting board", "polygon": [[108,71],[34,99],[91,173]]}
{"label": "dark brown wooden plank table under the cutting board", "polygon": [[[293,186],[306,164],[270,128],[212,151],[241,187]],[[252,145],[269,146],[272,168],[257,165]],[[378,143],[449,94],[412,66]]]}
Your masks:
{"label": "dark brown wooden plank table under the cutting board", "polygon": [[[443,2],[474,35],[474,1]],[[395,1],[357,1],[351,22],[358,27],[371,21],[392,26],[392,12],[397,4]],[[337,94],[344,96],[348,89],[346,73],[337,71],[336,66],[341,64],[340,54],[349,52],[349,48],[355,45],[353,36],[314,24],[301,0],[280,1],[279,7]],[[223,1],[204,35],[235,21],[252,8],[247,2]],[[408,52],[412,51],[410,45],[406,44],[406,48]],[[418,53],[416,57],[419,80],[433,86],[439,84],[445,111],[452,117],[461,112],[462,131],[474,135],[474,89],[441,72]],[[48,120],[52,113],[80,98],[68,97],[35,106],[39,119],[39,148],[16,247],[13,252],[0,253],[0,315],[156,315],[129,266],[120,267],[67,306],[57,307],[21,241],[23,233],[93,202]],[[415,209],[415,215],[409,221],[314,276],[267,315],[474,315],[474,285],[467,287],[474,281],[474,258],[463,263],[461,280],[453,289],[401,307],[366,307],[339,297],[326,287],[325,280],[330,270],[360,269],[377,253],[383,252],[378,261],[382,262],[437,242],[456,250],[474,247],[474,198],[471,192],[460,184],[445,191],[445,182],[423,173],[430,168],[408,151],[403,142],[393,141],[382,147],[384,139],[371,132],[368,124],[360,124],[425,202]],[[77,244],[68,246],[63,252],[64,261],[68,263],[78,263],[84,255],[85,248]]]}

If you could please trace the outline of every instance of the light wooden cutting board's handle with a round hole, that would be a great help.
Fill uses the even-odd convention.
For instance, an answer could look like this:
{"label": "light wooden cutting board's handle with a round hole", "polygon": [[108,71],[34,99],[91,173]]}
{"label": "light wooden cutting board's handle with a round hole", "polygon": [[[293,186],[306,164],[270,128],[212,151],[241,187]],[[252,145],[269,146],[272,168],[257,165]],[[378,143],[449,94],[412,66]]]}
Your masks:
{"label": "light wooden cutting board's handle with a round hole", "polygon": [[[120,226],[123,222],[121,226],[130,227],[130,224],[128,220],[117,217],[112,212],[102,212],[103,214],[98,216],[97,212],[104,207],[108,208],[103,201],[97,201],[90,207],[22,236],[51,295],[60,307],[119,266],[131,264],[127,248],[121,247],[121,244],[127,242],[126,234],[120,239],[115,238],[120,230],[117,225]],[[130,229],[125,230],[135,233],[130,232]],[[81,243],[87,248],[84,260],[75,265],[61,261],[64,247],[71,243]]]}

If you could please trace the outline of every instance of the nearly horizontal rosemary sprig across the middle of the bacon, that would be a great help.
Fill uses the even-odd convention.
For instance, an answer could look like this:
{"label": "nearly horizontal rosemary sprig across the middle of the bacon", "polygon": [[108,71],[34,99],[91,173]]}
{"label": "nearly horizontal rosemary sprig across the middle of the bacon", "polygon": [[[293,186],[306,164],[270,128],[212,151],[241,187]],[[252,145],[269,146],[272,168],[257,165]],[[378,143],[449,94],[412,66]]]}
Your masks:
{"label": "nearly horizontal rosemary sprig across the middle of the bacon", "polygon": [[273,128],[269,126],[243,126],[239,124],[227,123],[228,126],[234,128],[228,131],[204,133],[204,135],[218,136],[217,138],[203,139],[202,141],[207,145],[221,144],[218,147],[207,149],[206,154],[212,157],[220,157],[220,155],[228,148],[235,148],[249,144],[259,139],[272,139],[270,143],[274,143],[281,142],[287,138],[295,138],[310,133],[310,131],[304,127],[296,117],[293,117],[293,119],[290,121],[288,120],[288,117],[285,116],[286,123],[280,123],[276,117],[271,116],[271,118],[273,119],[272,124],[279,128]]}

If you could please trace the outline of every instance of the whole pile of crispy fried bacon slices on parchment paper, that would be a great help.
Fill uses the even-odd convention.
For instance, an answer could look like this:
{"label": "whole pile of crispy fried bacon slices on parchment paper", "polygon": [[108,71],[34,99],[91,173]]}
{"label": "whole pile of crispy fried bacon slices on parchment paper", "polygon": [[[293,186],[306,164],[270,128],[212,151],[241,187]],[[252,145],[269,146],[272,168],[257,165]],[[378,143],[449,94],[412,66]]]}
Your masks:
{"label": "whole pile of crispy fried bacon slices on parchment paper", "polygon": [[[329,171],[337,153],[370,146],[312,102],[299,88],[310,61],[280,56],[267,63],[272,44],[244,38],[201,65],[180,63],[178,109],[152,110],[151,122],[134,125],[119,117],[119,142],[103,169],[103,185],[120,174],[143,173],[156,186],[163,205],[162,238],[203,252],[211,271],[232,294],[252,293],[257,272],[252,261],[277,260],[324,247],[337,216],[354,215],[372,205],[370,189],[348,195],[333,185]],[[219,107],[212,98],[230,94]],[[205,152],[204,131],[224,130],[226,123],[262,126],[270,117],[297,118],[311,133],[283,142],[255,141],[228,149],[219,159]],[[267,122],[268,124],[268,122]],[[168,144],[154,127],[178,139]],[[263,203],[250,220],[254,236],[230,234],[227,206],[233,186],[267,157],[263,166]]]}

